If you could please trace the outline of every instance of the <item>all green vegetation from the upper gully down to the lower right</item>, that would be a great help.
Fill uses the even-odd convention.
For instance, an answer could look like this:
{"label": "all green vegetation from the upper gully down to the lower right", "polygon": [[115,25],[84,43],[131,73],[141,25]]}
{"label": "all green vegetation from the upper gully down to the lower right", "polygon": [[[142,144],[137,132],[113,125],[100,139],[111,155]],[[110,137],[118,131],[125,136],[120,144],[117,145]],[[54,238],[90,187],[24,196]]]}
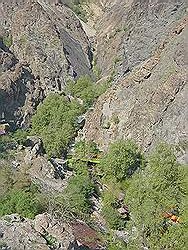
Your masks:
{"label": "all green vegetation from the upper gully down to the lower right", "polygon": [[[69,82],[64,94],[51,94],[39,105],[32,119],[31,133],[42,138],[48,157],[63,154],[69,159],[68,168],[73,176],[62,193],[48,197],[41,196],[26,171],[0,166],[0,216],[19,213],[34,218],[50,204],[51,211],[58,216],[95,224],[91,216],[92,198],[100,197],[100,214],[109,232],[105,234],[108,249],[147,246],[156,250],[184,250],[187,170],[177,163],[171,147],[161,144],[146,155],[133,141],[120,140],[110,145],[108,153],[103,153],[94,142],[83,140],[74,145],[72,153],[68,151],[82,126],[79,118],[106,87],[82,77],[76,83]],[[27,134],[28,131],[18,130],[1,137],[1,159],[6,162],[15,145],[24,144]],[[177,220],[172,221],[166,214],[172,214]],[[114,230],[128,231],[128,243],[117,240]]]}

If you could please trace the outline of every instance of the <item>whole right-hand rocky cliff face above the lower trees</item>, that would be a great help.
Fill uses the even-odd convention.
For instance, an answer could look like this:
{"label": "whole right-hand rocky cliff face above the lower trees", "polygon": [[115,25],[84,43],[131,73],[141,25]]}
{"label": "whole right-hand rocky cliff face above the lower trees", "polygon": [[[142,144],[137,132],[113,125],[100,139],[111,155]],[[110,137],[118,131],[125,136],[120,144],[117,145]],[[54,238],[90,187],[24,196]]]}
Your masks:
{"label": "whole right-hand rocky cliff face above the lower trees", "polygon": [[[128,9],[119,9],[126,22],[117,19],[118,24],[126,24],[124,31],[116,31],[113,38],[106,33],[106,46],[105,29],[97,37],[103,74],[112,68],[110,55],[120,55],[113,66],[119,74],[88,114],[85,136],[105,150],[118,138],[132,138],[146,150],[161,140],[182,145],[188,138],[185,5],[183,1],[133,1]],[[110,23],[110,13],[103,18]]]}

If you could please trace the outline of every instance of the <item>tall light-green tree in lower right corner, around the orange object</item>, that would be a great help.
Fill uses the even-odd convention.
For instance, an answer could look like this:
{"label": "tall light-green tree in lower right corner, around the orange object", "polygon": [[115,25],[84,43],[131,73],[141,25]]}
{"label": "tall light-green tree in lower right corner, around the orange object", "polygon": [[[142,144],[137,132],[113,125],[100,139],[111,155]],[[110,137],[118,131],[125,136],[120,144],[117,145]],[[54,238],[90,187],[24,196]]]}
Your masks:
{"label": "tall light-green tree in lower right corner, around the orange object", "polygon": [[[133,176],[126,202],[131,210],[130,229],[135,226],[137,232],[130,241],[130,249],[131,245],[156,250],[185,249],[185,224],[173,224],[163,216],[169,211],[182,216],[183,179],[182,167],[165,144],[150,155],[146,169]],[[177,237],[182,239],[181,248]]]}

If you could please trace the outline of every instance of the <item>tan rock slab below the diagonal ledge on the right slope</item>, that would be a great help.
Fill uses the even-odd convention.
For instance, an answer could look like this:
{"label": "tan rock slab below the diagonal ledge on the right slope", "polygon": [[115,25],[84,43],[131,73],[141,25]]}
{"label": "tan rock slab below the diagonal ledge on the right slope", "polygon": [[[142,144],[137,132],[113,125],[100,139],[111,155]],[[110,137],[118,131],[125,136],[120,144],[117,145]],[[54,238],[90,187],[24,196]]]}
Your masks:
{"label": "tan rock slab below the diagonal ledge on the right slope", "polygon": [[[186,154],[182,145],[188,140],[188,25],[184,10],[182,13],[168,32],[163,30],[151,56],[120,77],[88,112],[87,139],[95,140],[104,150],[120,138],[134,139],[145,150],[166,141],[179,145]],[[145,36],[147,33],[140,37]],[[149,41],[143,46],[148,55]],[[134,44],[132,49],[136,51]]]}

